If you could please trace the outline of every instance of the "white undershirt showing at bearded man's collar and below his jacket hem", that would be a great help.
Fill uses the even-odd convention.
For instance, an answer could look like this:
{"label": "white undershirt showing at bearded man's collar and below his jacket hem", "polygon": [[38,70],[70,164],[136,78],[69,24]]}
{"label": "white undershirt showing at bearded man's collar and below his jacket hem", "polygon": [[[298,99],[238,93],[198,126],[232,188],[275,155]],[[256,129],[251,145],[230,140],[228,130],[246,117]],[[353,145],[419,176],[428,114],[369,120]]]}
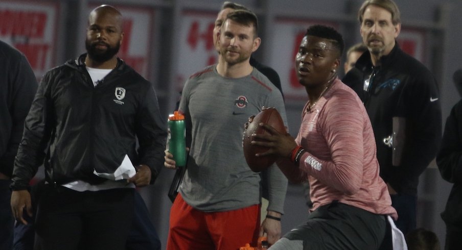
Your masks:
{"label": "white undershirt showing at bearded man's collar and below his jacket hem", "polygon": [[[100,69],[100,68],[90,68],[90,67],[86,67],[86,69],[88,71],[88,74],[90,74],[91,81],[93,82],[93,86],[95,87],[112,70],[112,69]],[[100,191],[100,190],[107,190],[107,189],[114,189],[114,188],[134,188],[135,187],[133,183],[127,184],[126,181],[112,181],[112,180],[107,180],[98,185],[91,185],[88,182],[77,180],[74,182],[63,184],[62,186],[66,188],[70,188],[75,191],[79,191],[79,192]]]}

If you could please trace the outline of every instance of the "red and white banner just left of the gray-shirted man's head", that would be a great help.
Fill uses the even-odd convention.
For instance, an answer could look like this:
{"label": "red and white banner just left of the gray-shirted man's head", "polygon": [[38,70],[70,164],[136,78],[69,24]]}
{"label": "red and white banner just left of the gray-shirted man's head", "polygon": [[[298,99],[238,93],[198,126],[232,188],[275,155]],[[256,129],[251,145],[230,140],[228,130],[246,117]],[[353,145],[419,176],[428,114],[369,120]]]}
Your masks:
{"label": "red and white banner just left of the gray-shirted man's head", "polygon": [[217,63],[213,28],[217,13],[184,11],[182,13],[175,72],[176,90],[180,91],[191,74]]}

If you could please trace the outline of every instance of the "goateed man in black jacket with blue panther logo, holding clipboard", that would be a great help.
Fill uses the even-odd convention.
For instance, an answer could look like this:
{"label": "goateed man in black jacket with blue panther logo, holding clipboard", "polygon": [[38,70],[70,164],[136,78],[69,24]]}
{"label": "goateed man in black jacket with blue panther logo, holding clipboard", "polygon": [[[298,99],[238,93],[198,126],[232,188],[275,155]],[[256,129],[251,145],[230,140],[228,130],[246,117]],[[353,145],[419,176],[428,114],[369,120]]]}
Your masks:
{"label": "goateed man in black jacket with blue panther logo, holding clipboard", "polygon": [[368,52],[343,78],[364,102],[377,143],[380,176],[388,185],[398,226],[417,224],[417,185],[441,139],[441,104],[431,72],[396,42],[400,12],[392,0],[367,0],[359,10]]}

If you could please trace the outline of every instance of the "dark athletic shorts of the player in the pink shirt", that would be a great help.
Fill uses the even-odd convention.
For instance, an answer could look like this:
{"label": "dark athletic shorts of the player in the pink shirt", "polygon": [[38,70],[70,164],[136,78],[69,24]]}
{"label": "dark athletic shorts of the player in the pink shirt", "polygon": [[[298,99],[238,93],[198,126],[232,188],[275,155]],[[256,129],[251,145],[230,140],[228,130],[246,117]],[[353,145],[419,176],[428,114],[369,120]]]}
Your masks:
{"label": "dark athletic shorts of the player in the pink shirt", "polygon": [[378,249],[385,237],[385,215],[333,202],[317,208],[285,238],[303,249]]}

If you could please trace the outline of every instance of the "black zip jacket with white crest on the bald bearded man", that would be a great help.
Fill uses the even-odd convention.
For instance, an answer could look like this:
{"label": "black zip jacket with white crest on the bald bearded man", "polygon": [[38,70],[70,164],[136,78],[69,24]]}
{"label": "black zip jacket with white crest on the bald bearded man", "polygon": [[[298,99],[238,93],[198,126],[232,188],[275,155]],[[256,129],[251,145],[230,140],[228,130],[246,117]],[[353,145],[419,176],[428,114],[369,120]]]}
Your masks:
{"label": "black zip jacket with white crest on the bald bearded man", "polygon": [[42,78],[14,163],[13,190],[28,188],[42,163],[47,181],[56,185],[99,184],[105,179],[94,170],[112,173],[125,155],[135,166],[150,167],[151,183],[164,165],[166,123],[151,83],[118,59],[94,87],[85,56]]}

